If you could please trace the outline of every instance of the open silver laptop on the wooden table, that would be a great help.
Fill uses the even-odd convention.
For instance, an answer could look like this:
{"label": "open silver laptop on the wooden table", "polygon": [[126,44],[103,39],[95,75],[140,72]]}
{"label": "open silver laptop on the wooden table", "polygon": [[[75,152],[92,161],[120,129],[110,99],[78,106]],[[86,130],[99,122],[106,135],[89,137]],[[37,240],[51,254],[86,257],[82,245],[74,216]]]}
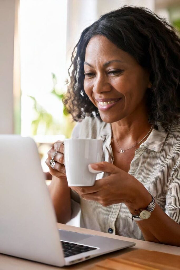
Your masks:
{"label": "open silver laptop on the wooden table", "polygon": [[64,266],[135,245],[57,229],[33,139],[0,135],[0,175],[0,253]]}

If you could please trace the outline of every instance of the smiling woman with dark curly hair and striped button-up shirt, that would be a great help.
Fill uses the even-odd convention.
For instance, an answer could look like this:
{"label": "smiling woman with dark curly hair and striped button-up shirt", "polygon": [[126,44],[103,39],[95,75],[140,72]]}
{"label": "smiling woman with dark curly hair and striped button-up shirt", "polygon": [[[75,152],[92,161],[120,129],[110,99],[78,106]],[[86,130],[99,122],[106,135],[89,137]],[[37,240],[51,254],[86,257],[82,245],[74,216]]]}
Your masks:
{"label": "smiling woman with dark curly hair and striped button-up shirt", "polygon": [[81,227],[180,246],[179,48],[172,26],[144,8],[123,6],[84,29],[64,104],[78,122],[72,138],[103,139],[104,162],[91,167],[104,173],[71,189],[63,143],[53,145],[59,222],[78,203]]}

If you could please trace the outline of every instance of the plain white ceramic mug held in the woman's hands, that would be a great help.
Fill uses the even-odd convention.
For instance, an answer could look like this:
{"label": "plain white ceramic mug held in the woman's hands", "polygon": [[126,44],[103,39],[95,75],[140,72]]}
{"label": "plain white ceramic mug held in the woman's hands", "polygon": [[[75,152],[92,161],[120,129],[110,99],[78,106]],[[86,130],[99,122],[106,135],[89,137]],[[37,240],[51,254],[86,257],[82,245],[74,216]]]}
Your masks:
{"label": "plain white ceramic mug held in the woman's hands", "polygon": [[[93,186],[97,173],[88,165],[101,162],[103,140],[99,139],[65,139],[64,166],[69,186]],[[89,168],[89,169],[88,169]],[[90,171],[91,172],[90,172]]]}

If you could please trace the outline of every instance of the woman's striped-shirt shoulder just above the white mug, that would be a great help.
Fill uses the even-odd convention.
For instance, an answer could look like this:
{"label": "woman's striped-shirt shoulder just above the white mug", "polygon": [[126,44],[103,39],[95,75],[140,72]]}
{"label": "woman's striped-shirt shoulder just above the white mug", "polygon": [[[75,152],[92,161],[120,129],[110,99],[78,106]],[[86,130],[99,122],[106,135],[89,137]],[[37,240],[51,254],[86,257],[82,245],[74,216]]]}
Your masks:
{"label": "woman's striped-shirt shoulder just above the white mug", "polygon": [[85,117],[81,122],[77,122],[72,131],[72,138],[96,139],[106,123],[97,117]]}

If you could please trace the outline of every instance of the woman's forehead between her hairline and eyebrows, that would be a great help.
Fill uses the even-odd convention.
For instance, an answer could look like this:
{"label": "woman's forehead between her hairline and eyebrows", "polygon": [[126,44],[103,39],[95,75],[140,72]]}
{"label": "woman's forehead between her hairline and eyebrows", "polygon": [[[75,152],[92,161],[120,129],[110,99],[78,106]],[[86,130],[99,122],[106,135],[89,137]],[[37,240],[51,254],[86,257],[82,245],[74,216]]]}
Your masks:
{"label": "woman's forehead between her hairline and eyebrows", "polygon": [[[115,58],[116,57],[116,58]],[[131,56],[119,49],[113,42],[105,36],[97,35],[90,39],[86,47],[85,61],[96,63],[99,61],[119,59],[127,62]]]}

